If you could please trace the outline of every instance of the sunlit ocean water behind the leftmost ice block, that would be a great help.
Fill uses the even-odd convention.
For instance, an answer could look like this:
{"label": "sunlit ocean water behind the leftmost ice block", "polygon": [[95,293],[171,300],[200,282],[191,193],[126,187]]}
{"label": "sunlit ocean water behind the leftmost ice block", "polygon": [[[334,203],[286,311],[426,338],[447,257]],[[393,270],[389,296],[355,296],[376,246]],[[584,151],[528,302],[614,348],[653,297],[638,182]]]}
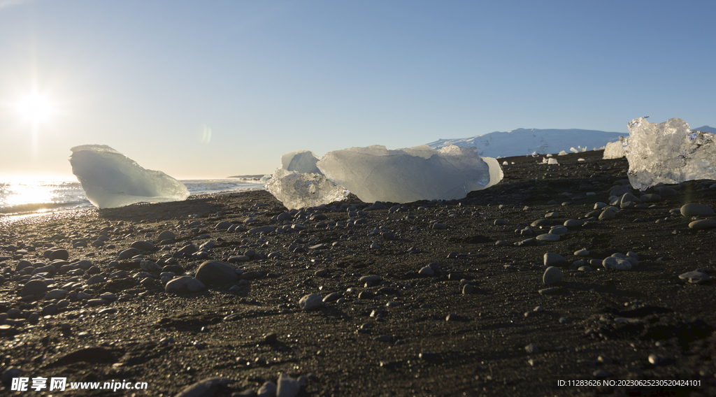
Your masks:
{"label": "sunlit ocean water behind the leftmost ice block", "polygon": [[[256,180],[240,178],[180,182],[192,195],[263,189],[263,185]],[[82,185],[77,181],[0,182],[0,217],[83,207],[92,207],[92,203],[84,196]]]}

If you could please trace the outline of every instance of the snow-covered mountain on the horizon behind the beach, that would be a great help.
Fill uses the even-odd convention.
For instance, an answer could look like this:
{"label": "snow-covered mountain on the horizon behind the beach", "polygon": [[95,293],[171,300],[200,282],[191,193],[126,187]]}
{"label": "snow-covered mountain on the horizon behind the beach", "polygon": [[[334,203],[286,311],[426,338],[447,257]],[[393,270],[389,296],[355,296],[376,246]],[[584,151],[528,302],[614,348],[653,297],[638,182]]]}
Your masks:
{"label": "snow-covered mountain on the horizon behind the beach", "polygon": [[[703,130],[702,130],[703,131]],[[574,147],[586,147],[594,150],[604,147],[609,142],[619,139],[619,135],[629,136],[629,132],[604,132],[590,129],[513,129],[508,132],[490,132],[471,138],[437,139],[427,146],[433,149],[454,144],[455,146],[474,146],[478,154],[486,157],[510,157],[531,155],[537,152],[540,155],[559,153],[562,150],[568,153]]]}

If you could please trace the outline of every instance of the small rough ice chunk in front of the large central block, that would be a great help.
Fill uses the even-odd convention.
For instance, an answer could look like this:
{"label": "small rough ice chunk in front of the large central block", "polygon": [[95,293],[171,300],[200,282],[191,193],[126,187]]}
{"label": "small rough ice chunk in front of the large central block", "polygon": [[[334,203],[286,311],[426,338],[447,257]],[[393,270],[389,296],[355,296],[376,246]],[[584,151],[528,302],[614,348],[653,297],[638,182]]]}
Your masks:
{"label": "small rough ice chunk in front of the large central block", "polygon": [[266,190],[289,210],[317,207],[345,200],[348,192],[342,186],[315,172],[301,173],[279,168],[266,182]]}

